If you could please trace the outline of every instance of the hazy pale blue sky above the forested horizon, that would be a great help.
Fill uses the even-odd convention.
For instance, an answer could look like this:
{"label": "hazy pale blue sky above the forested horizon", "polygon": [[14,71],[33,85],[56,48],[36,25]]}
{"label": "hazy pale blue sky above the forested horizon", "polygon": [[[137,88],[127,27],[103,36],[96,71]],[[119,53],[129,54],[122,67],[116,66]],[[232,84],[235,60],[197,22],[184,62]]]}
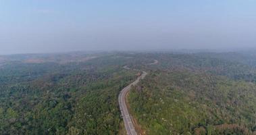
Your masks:
{"label": "hazy pale blue sky above the forested horizon", "polygon": [[255,0],[0,0],[0,55],[256,47]]}

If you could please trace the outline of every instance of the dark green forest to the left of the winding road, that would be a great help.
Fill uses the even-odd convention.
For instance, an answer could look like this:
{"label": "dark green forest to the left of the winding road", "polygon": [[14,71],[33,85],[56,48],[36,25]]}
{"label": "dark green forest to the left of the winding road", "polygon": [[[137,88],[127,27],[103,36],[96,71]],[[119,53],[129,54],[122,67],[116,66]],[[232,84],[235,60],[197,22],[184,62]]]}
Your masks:
{"label": "dark green forest to the left of the winding road", "polygon": [[0,134],[118,134],[118,93],[136,78],[122,68],[125,61],[107,55],[64,64],[5,63]]}

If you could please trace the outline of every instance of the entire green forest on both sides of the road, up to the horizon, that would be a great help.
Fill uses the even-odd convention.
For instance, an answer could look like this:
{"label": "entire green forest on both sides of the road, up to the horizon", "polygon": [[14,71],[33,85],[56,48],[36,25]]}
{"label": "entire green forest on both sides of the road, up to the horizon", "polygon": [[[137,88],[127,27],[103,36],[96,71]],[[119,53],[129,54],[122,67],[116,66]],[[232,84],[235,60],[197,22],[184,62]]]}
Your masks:
{"label": "entire green forest on both sides of the road, up to the horizon", "polygon": [[[157,59],[156,65],[148,65]],[[256,56],[111,52],[0,56],[0,134],[256,134]]]}

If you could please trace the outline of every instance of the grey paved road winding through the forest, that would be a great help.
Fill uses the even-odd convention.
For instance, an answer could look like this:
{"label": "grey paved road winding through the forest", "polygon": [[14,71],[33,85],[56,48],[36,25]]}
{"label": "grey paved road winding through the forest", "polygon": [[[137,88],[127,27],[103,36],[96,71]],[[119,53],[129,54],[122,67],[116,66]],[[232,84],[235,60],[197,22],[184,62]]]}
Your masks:
{"label": "grey paved road winding through the forest", "polygon": [[[157,63],[158,63],[158,61],[154,60],[153,63],[148,63],[147,65],[153,65],[153,64],[157,64]],[[127,65],[124,66],[124,69],[131,70],[130,68],[128,68]],[[136,70],[136,71],[138,71],[138,70]],[[123,88],[118,96],[118,103],[120,105],[120,110],[122,113],[122,117],[124,119],[124,126],[126,127],[126,133],[128,135],[136,135],[137,133],[134,128],[134,123],[132,121],[132,117],[131,117],[131,115],[127,109],[127,106],[126,106],[126,94],[129,92],[132,85],[138,84],[140,79],[145,78],[145,76],[147,76],[147,72],[143,71],[143,74],[141,74],[134,82],[132,82],[131,84],[129,84],[128,86]]]}

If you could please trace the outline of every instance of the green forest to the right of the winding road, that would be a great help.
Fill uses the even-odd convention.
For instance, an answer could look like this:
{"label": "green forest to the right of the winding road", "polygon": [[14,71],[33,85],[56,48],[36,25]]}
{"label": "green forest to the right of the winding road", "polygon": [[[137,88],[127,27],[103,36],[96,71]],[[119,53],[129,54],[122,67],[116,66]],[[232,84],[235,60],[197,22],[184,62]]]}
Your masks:
{"label": "green forest to the right of the winding road", "polygon": [[155,56],[158,65],[147,68],[149,76],[129,96],[140,132],[256,134],[255,65],[230,55]]}

